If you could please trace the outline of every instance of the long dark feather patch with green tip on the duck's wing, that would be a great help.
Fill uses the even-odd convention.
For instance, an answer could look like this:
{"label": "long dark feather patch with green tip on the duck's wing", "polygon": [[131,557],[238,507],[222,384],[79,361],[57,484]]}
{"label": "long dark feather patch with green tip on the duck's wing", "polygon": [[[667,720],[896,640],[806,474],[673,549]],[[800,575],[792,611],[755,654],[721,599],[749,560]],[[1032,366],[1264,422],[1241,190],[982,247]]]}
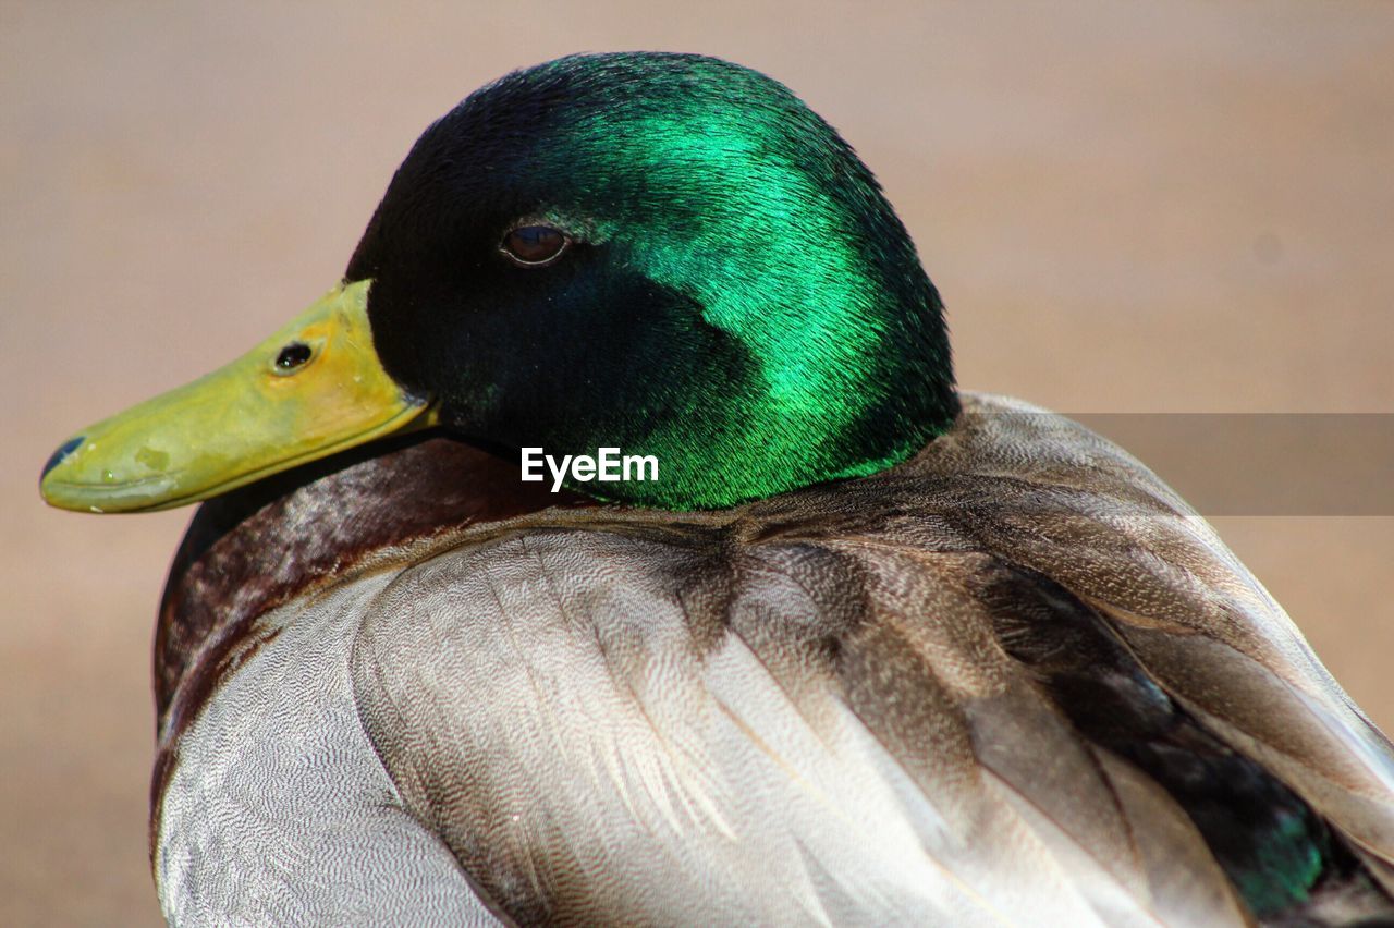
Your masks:
{"label": "long dark feather patch with green tip on the duck's wing", "polygon": [[1131,761],[1181,804],[1263,920],[1303,920],[1358,865],[1292,790],[1206,732],[1105,621],[1048,577],[1002,566],[983,578],[1002,648],[1090,741]]}

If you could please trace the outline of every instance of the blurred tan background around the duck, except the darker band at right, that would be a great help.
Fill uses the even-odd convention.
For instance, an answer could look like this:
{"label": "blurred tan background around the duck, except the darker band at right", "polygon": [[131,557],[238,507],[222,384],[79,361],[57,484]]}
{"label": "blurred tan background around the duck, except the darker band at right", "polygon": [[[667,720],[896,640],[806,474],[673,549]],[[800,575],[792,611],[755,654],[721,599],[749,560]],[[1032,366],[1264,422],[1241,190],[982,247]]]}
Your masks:
{"label": "blurred tan background around the duck, except the darker band at right", "polygon": [[[838,125],[967,387],[1394,412],[1388,3],[3,3],[0,924],[158,920],[148,652],[188,513],[46,510],[50,450],[328,288],[459,98],[612,49],[735,59]],[[1216,524],[1394,727],[1394,518]]]}

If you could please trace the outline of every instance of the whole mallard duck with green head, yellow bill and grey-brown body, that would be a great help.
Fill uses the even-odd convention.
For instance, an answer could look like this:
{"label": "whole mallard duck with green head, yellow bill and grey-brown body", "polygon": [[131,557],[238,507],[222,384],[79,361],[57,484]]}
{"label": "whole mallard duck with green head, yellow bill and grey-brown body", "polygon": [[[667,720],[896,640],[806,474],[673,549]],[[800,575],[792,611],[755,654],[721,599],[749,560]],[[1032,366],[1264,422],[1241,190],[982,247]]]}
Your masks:
{"label": "whole mallard duck with green head, yellow bill and grey-brown body", "polygon": [[171,922],[1394,915],[1388,741],[1146,467],[956,389],[870,171],[725,61],[468,96],[339,286],[42,492],[208,500]]}

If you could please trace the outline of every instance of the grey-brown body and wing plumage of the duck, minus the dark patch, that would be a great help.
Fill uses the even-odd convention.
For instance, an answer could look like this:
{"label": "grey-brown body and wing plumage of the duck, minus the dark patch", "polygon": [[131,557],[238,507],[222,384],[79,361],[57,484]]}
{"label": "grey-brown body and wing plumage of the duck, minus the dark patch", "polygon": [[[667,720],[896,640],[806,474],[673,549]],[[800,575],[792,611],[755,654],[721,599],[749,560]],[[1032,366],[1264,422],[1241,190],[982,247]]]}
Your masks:
{"label": "grey-brown body and wing plumage of the duck, minus the dark patch", "polygon": [[873,478],[468,525],[262,616],[174,744],[166,914],[1245,924],[1004,620],[1033,578],[1388,881],[1388,743],[1257,581],[1118,449],[965,396]]}

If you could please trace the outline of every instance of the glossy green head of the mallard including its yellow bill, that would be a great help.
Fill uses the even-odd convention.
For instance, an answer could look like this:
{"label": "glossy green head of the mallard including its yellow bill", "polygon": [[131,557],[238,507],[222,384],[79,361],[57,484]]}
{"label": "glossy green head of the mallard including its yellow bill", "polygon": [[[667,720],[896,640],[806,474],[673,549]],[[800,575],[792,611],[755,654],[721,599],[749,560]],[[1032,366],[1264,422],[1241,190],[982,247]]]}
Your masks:
{"label": "glossy green head of the mallard including its yellow bill", "polygon": [[344,279],[241,359],[81,431],[42,478],[167,509],[441,424],[652,456],[601,499],[725,507],[905,460],[958,410],[942,307],[852,149],[781,84],[560,59],[417,141]]}

